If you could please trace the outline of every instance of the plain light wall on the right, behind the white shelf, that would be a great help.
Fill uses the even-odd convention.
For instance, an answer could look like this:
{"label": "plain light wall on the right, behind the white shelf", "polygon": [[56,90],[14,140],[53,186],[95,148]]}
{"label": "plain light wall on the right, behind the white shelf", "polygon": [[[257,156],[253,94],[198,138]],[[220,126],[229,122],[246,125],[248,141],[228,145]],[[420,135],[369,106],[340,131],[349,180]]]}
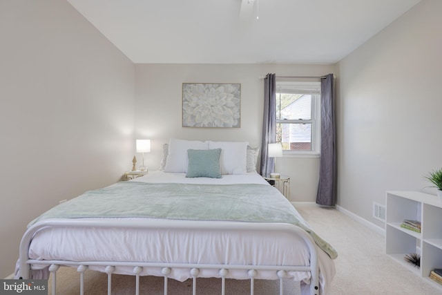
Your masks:
{"label": "plain light wall on the right, behind the white shelf", "polygon": [[338,204],[374,222],[387,190],[434,193],[442,166],[442,1],[422,1],[339,62]]}

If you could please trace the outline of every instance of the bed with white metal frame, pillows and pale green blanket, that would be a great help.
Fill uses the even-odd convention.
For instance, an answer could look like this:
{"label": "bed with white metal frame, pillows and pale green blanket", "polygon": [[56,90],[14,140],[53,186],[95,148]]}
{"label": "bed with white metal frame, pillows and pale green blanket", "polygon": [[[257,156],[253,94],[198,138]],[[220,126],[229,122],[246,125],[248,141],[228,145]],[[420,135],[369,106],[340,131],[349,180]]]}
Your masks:
{"label": "bed with white metal frame, pillows and pale green blanket", "polygon": [[[211,144],[212,143],[212,144]],[[247,142],[171,139],[160,171],[88,191],[28,225],[16,278],[56,277],[59,266],[167,280],[301,282],[327,294],[337,254],[256,171]],[[251,159],[252,158],[252,159]],[[247,164],[249,162],[249,164]],[[218,163],[218,164],[217,164]],[[56,279],[52,282],[55,284]],[[55,289],[55,287],[52,287]],[[83,287],[81,287],[82,292]]]}

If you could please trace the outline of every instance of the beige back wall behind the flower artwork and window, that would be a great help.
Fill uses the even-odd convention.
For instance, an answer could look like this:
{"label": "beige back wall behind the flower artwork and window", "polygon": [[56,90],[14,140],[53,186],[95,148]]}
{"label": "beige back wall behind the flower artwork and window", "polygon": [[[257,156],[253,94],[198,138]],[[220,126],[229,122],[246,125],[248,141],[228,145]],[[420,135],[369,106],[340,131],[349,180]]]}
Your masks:
{"label": "beige back wall behind the flower artwork and window", "polygon": [[[170,137],[189,140],[248,141],[260,146],[264,77],[276,75],[320,76],[334,73],[332,65],[321,64],[136,64],[135,137],[151,139],[152,151],[145,154],[148,169],[158,169],[162,144]],[[204,129],[182,127],[182,83],[240,83],[241,127]],[[140,162],[142,155],[137,155]],[[291,176],[292,201],[314,202],[318,187],[318,158],[284,158],[276,170]]]}

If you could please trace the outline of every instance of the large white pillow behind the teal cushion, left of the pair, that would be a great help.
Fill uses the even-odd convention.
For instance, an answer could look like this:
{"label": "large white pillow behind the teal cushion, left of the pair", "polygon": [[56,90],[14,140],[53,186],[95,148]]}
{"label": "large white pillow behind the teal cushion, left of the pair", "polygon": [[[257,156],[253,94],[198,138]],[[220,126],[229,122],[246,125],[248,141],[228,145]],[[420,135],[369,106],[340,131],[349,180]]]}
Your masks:
{"label": "large white pillow behind the teal cushion, left of the pair", "polygon": [[171,138],[164,172],[187,173],[188,149],[209,149],[209,142]]}

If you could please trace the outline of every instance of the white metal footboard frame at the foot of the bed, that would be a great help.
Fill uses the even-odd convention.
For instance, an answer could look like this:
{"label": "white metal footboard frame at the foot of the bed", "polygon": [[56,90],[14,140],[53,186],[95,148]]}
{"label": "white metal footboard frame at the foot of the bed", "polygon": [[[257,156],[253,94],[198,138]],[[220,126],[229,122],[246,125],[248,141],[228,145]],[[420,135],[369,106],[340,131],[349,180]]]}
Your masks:
{"label": "white metal footboard frame at the foot of the bed", "polygon": [[[204,230],[204,229],[220,229],[220,230],[253,230],[253,231],[281,231],[288,232],[299,236],[305,241],[310,253],[310,265],[225,265],[225,264],[183,264],[183,263],[149,263],[145,262],[128,262],[128,261],[68,261],[68,260],[34,260],[28,256],[30,242],[33,236],[40,229],[45,227],[113,227],[113,228],[132,228],[132,229],[186,229],[186,230]],[[196,278],[200,273],[200,269],[219,269],[218,274],[222,280],[221,294],[224,295],[225,278],[229,274],[229,269],[239,269],[247,272],[250,278],[251,295],[253,295],[253,279],[258,272],[274,271],[280,280],[280,295],[282,295],[282,279],[288,277],[287,272],[310,272],[310,294],[319,294],[319,270],[318,258],[316,253],[316,245],[307,231],[285,223],[262,223],[262,222],[222,222],[222,221],[195,221],[195,220],[44,220],[32,225],[23,235],[20,243],[20,278],[30,278],[30,270],[32,264],[48,265],[49,272],[52,274],[52,294],[56,294],[56,272],[59,266],[77,267],[77,272],[80,274],[80,294],[84,294],[84,272],[90,265],[98,265],[106,267],[104,272],[108,274],[108,294],[111,294],[111,280],[112,274],[116,267],[133,267],[133,274],[135,275],[135,294],[140,292],[140,273],[144,267],[161,268],[164,275],[164,295],[167,294],[168,275],[173,268],[190,269],[191,277],[193,278],[193,295],[196,294]]]}

